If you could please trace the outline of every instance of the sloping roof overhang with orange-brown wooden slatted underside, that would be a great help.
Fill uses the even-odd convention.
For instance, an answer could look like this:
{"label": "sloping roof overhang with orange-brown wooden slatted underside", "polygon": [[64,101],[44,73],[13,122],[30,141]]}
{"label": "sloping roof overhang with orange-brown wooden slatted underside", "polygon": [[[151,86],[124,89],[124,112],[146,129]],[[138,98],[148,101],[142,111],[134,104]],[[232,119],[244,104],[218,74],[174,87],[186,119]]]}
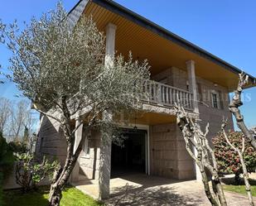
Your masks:
{"label": "sloping roof overhang with orange-brown wooden slatted underside", "polygon": [[[133,58],[147,59],[152,66],[152,75],[171,66],[186,69],[186,60],[194,60],[197,76],[220,84],[229,91],[237,86],[241,69],[114,1],[80,0],[69,13],[70,24],[75,26],[83,14],[92,16],[100,31],[104,31],[109,22],[114,23],[117,26],[117,53],[128,55],[131,50]],[[255,85],[256,79],[249,75],[248,88]]]}

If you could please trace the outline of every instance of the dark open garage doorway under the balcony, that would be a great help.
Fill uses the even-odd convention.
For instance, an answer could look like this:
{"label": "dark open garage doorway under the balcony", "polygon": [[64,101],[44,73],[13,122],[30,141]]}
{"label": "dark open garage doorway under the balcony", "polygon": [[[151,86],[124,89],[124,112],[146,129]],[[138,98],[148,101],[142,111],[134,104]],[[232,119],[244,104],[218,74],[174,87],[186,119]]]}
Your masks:
{"label": "dark open garage doorway under the balcony", "polygon": [[123,146],[112,144],[111,177],[146,173],[147,131],[123,129]]}

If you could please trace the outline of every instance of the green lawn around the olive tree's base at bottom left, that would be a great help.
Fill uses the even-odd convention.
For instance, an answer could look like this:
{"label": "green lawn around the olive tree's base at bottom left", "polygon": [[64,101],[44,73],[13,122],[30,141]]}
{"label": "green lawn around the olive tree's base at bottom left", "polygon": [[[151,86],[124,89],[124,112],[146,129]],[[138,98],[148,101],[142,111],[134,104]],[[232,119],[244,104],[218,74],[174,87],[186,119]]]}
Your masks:
{"label": "green lawn around the olive tree's base at bottom left", "polygon": [[[41,187],[38,192],[22,194],[19,190],[9,190],[4,192],[3,206],[47,206],[49,189]],[[94,199],[83,194],[80,190],[69,187],[63,192],[60,206],[99,206]]]}

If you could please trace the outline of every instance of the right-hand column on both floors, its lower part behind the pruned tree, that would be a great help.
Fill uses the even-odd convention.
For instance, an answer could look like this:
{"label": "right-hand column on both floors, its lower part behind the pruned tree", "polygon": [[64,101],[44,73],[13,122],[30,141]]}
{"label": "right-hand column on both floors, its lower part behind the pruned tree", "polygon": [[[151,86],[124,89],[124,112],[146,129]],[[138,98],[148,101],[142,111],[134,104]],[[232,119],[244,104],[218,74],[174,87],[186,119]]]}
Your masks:
{"label": "right-hand column on both floors, its lower part behind the pruned tree", "polygon": [[[194,113],[199,113],[198,108],[198,98],[197,98],[197,90],[196,90],[196,74],[195,74],[195,61],[188,60],[186,61],[186,69],[188,74],[188,80],[189,80],[189,90],[191,93],[193,93],[193,105],[194,105]],[[197,156],[196,148],[193,148],[195,156]],[[196,161],[194,161],[194,171],[196,174],[196,180],[200,181],[202,179],[200,175],[200,169],[196,165]]]}

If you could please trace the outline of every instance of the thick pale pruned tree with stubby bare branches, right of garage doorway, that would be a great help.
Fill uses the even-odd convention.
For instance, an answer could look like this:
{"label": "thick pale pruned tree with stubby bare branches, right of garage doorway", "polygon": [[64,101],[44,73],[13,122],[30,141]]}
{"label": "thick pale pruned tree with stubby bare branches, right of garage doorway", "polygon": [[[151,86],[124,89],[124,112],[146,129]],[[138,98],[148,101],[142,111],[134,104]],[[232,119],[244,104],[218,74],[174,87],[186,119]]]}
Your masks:
{"label": "thick pale pruned tree with stubby bare branches, right of garage doorway", "polygon": [[[207,199],[213,206],[226,206],[227,202],[220,182],[215,152],[210,147],[207,139],[210,130],[209,123],[205,127],[205,132],[203,132],[199,122],[189,117],[189,114],[180,105],[176,104],[175,111],[176,123],[186,143],[186,151],[200,169]],[[210,181],[208,180],[207,171],[210,173]],[[211,187],[212,189],[210,189]]]}

